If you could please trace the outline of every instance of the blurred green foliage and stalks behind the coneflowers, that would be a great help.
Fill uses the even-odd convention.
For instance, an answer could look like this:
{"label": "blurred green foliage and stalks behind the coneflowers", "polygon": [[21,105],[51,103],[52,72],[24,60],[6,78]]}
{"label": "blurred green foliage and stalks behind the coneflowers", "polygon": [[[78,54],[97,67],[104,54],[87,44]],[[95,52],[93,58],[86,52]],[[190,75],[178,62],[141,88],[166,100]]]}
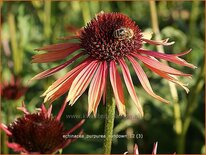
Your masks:
{"label": "blurred green foliage and stalks behind the coneflowers", "polygon": [[[205,14],[204,2],[194,1],[158,1],[155,3],[159,29],[162,38],[169,37],[176,43],[164,48],[165,53],[180,53],[192,48],[192,52],[184,59],[198,68],[195,70],[170,64],[171,66],[191,73],[192,79],[182,78],[188,83],[190,93],[177,86],[178,99],[172,98],[170,87],[166,80],[145,69],[154,91],[170,101],[170,105],[160,103],[150,97],[141,87],[136,75],[132,72],[136,92],[143,105],[145,116],[136,116],[133,104],[126,101],[127,115],[132,117],[116,118],[115,134],[131,135],[143,134],[143,138],[117,138],[113,140],[112,153],[132,153],[135,143],[139,151],[151,153],[153,143],[158,141],[158,153],[206,153],[205,152],[205,90],[204,90],[204,34]],[[24,100],[31,112],[40,106],[43,98],[40,95],[54,82],[55,79],[66,74],[77,63],[74,63],[49,78],[28,84],[37,73],[54,67],[60,62],[31,64],[31,57],[37,54],[35,48],[46,44],[59,43],[59,37],[75,33],[75,30],[104,12],[121,12],[131,17],[142,31],[152,31],[151,3],[149,1],[28,1],[1,2],[1,82],[10,79],[11,75],[20,77],[22,83],[29,87],[27,93],[18,100],[2,98],[2,122],[8,124],[21,116],[16,106]],[[154,37],[153,37],[154,39]],[[156,47],[146,45],[145,48],[157,50]],[[130,66],[131,67],[131,66]],[[125,93],[127,93],[125,91]],[[65,96],[53,103],[54,115],[63,103]],[[80,118],[68,118],[68,115],[87,115],[87,91],[74,104],[68,106],[62,121],[67,129],[79,122]],[[103,115],[105,107],[100,104],[98,114]],[[136,116],[136,117],[135,117]],[[103,135],[104,119],[88,118],[83,126],[85,135]],[[2,133],[2,145],[5,144]],[[63,153],[102,153],[103,139],[79,139],[63,150]],[[2,146],[3,147],[3,146]],[[5,148],[5,146],[4,146]],[[6,148],[2,149],[5,153]],[[9,150],[9,153],[13,153]]]}

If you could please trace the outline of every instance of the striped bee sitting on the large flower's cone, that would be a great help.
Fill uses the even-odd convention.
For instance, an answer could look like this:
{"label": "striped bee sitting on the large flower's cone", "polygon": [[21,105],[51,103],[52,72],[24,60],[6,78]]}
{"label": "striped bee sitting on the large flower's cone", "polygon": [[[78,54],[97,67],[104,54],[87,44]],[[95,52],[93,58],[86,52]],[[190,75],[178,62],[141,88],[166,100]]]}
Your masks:
{"label": "striped bee sitting on the large flower's cone", "polygon": [[113,36],[118,40],[131,39],[134,36],[134,32],[130,28],[121,27],[113,32]]}

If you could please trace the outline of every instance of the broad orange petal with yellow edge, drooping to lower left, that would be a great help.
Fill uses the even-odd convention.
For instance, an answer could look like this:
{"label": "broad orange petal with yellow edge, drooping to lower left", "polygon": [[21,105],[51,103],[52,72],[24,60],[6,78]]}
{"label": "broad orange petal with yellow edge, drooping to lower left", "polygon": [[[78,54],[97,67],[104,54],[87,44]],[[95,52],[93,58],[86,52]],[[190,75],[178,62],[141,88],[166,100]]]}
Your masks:
{"label": "broad orange petal with yellow edge, drooping to lower left", "polygon": [[44,102],[47,101],[54,101],[66,91],[69,90],[74,78],[91,62],[90,59],[84,60],[80,65],[76,68],[68,72],[62,78],[59,78],[55,81],[45,92],[42,96],[45,96]]}

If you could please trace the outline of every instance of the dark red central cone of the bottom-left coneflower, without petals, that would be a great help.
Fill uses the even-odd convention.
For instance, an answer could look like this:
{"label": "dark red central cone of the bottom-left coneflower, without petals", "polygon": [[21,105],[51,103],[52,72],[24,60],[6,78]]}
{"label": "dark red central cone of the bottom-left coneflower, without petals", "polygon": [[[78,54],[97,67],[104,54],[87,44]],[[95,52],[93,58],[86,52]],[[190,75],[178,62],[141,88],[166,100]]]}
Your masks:
{"label": "dark red central cone of the bottom-left coneflower, without petals", "polygon": [[11,140],[28,152],[53,153],[65,142],[63,125],[53,118],[45,118],[42,113],[27,114],[8,129]]}

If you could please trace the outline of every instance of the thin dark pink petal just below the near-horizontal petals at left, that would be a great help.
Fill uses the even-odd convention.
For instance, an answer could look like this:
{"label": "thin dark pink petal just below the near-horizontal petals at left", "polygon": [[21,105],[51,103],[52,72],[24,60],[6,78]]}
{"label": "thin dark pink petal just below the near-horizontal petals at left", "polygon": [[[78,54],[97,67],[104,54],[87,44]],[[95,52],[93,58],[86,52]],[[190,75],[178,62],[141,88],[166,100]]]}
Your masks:
{"label": "thin dark pink petal just below the near-horizontal petals at left", "polygon": [[66,61],[65,63],[58,65],[56,67],[50,68],[48,70],[45,70],[39,74],[37,74],[36,76],[34,76],[30,81],[32,80],[38,80],[38,79],[43,79],[46,78],[48,76],[53,75],[54,73],[60,71],[61,69],[65,68],[66,66],[70,65],[71,63],[73,63],[76,59],[78,59],[80,56],[82,56],[83,53],[79,53],[76,56],[74,56],[72,59]]}

